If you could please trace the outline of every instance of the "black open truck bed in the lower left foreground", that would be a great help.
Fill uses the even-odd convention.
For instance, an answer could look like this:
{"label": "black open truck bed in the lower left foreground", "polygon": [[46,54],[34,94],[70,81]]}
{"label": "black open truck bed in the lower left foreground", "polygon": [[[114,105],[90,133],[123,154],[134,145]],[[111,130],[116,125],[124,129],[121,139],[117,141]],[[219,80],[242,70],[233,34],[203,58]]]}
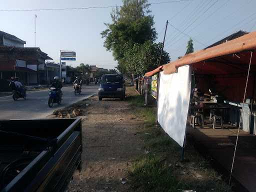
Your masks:
{"label": "black open truck bed in the lower left foreground", "polygon": [[63,191],[81,168],[81,120],[0,120],[0,191]]}

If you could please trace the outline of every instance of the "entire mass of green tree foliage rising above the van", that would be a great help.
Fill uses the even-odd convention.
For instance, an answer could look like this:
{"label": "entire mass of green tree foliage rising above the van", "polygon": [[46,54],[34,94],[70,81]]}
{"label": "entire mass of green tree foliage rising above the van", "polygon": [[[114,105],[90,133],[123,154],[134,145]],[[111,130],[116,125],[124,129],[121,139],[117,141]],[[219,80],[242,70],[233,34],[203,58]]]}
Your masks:
{"label": "entire mass of green tree foliage rising above the van", "polygon": [[160,47],[154,43],[156,31],[148,7],[147,0],[123,0],[123,6],[116,7],[110,14],[112,23],[105,23],[107,28],[100,33],[105,38],[104,46],[117,60],[116,68],[121,73],[138,74],[158,64],[153,61],[157,60],[154,54]]}

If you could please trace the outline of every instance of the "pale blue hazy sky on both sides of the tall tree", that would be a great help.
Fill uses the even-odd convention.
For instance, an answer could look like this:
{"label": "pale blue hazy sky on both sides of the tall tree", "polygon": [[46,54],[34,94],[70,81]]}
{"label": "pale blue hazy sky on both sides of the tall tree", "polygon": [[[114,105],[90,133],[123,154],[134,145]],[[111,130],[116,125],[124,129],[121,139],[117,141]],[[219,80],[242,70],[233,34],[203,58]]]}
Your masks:
{"label": "pale blue hazy sky on both sides of the tall tree", "polygon": [[[34,15],[36,14],[36,46],[59,62],[59,50],[76,51],[77,66],[88,63],[114,68],[112,53],[103,47],[100,32],[111,22],[112,8],[79,10],[2,11],[12,9],[73,8],[121,5],[121,0],[0,0],[0,30],[26,41],[34,47]],[[191,37],[194,50],[210,45],[238,30],[256,30],[256,0],[148,0],[154,16],[157,41],[163,40],[171,61],[182,56]]]}

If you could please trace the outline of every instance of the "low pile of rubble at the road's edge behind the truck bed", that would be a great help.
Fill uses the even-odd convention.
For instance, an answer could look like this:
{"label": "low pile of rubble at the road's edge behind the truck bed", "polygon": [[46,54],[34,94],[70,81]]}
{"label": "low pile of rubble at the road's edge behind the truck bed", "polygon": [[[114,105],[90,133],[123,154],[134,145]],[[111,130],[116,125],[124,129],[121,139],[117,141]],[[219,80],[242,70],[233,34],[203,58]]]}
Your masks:
{"label": "low pile of rubble at the road's edge behind the truck bed", "polygon": [[54,110],[52,114],[58,118],[73,118],[76,116],[81,116],[83,113],[83,109],[86,106],[88,106],[88,104],[72,104],[67,108]]}

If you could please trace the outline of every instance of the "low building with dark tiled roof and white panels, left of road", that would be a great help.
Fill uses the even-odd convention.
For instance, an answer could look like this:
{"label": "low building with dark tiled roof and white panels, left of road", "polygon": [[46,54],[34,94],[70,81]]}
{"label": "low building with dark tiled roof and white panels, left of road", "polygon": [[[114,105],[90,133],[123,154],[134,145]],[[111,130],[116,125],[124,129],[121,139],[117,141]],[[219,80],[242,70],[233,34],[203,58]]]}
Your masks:
{"label": "low building with dark tiled roof and white panels, left of road", "polygon": [[51,59],[39,47],[0,46],[0,86],[10,76],[19,76],[24,84],[40,82],[39,65]]}

